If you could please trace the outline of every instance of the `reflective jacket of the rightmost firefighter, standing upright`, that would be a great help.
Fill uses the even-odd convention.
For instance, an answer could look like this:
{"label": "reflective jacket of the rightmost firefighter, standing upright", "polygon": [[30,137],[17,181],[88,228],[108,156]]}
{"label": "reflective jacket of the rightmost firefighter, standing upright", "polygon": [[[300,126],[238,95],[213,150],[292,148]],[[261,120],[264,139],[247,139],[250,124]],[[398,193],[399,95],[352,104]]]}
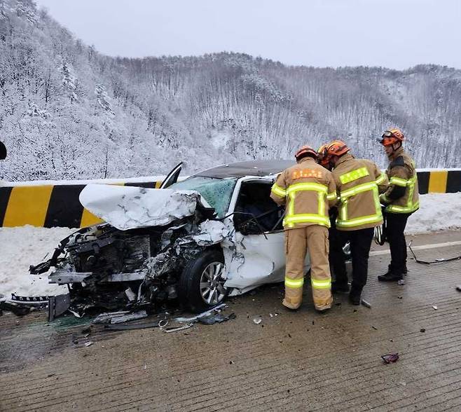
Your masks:
{"label": "reflective jacket of the rightmost firefighter, standing upright", "polygon": [[413,213],[420,207],[418,194],[418,174],[415,161],[400,147],[389,158],[386,174],[390,186],[380,195],[388,213]]}

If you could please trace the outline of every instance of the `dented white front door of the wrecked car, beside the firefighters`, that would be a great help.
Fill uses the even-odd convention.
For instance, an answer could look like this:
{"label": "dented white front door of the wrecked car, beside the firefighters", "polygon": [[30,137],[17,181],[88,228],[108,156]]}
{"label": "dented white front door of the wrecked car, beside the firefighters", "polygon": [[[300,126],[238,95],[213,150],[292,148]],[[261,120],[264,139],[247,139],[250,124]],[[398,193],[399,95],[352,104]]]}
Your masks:
{"label": "dented white front door of the wrecked car, beside the firefighters", "polygon": [[[270,205],[269,202],[273,202],[269,198],[270,187],[273,185],[273,182],[273,177],[244,177],[240,179],[235,186],[235,193],[233,200],[231,200],[229,212],[237,216],[239,213],[239,198],[245,193],[245,187],[247,186],[248,193],[254,192],[254,188],[252,189],[250,186],[251,184],[257,184],[266,188],[267,199],[261,198],[261,201]],[[248,187],[250,188],[249,190]],[[273,202],[273,207],[274,209],[277,208],[275,202]],[[235,252],[240,257],[240,260],[230,265],[226,287],[234,287],[244,292],[261,284],[282,282],[284,280],[285,246],[284,231],[281,225],[282,218],[283,210],[280,211],[277,219],[275,217],[273,219],[276,224],[278,223],[276,228],[270,230],[269,225],[266,228],[261,228],[259,233],[242,233],[239,227],[235,227]],[[257,231],[257,227],[255,229]],[[307,257],[306,269],[308,267],[309,259]]]}

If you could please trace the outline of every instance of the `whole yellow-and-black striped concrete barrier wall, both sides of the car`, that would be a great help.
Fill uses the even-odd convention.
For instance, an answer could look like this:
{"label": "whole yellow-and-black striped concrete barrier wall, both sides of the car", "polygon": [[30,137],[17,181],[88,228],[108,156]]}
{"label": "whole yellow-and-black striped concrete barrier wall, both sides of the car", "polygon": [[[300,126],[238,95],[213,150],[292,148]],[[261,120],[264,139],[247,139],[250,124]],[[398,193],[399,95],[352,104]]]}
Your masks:
{"label": "whole yellow-and-black striped concrete barrier wall, both sides of the car", "polygon": [[[109,181],[110,184],[158,188],[157,181]],[[104,181],[95,181],[104,183]],[[0,186],[0,226],[55,226],[78,228],[101,219],[85,210],[78,195],[90,181],[53,182]],[[418,170],[420,194],[461,192],[460,170]]]}

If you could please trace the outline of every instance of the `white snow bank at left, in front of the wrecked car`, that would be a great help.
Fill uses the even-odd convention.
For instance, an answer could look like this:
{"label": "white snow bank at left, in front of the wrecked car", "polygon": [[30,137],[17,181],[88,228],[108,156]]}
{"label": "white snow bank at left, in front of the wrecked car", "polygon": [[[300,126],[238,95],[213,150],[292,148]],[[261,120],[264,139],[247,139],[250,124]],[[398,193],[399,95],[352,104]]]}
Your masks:
{"label": "white snow bank at left, in front of the wrecked car", "polygon": [[58,242],[75,229],[69,228],[0,228],[0,294],[46,296],[66,293],[67,287],[48,284],[46,273],[30,275],[29,266],[51,257]]}

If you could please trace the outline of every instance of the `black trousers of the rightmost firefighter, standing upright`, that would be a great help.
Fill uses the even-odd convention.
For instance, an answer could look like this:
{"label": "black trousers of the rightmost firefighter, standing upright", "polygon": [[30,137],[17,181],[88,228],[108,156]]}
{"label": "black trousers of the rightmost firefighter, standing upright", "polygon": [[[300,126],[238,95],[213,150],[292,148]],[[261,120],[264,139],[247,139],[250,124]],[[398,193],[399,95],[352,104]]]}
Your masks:
{"label": "black trousers of the rightmost firefighter, standing upright", "polygon": [[406,273],[405,226],[410,214],[386,213],[386,237],[390,247],[390,272],[396,275]]}

